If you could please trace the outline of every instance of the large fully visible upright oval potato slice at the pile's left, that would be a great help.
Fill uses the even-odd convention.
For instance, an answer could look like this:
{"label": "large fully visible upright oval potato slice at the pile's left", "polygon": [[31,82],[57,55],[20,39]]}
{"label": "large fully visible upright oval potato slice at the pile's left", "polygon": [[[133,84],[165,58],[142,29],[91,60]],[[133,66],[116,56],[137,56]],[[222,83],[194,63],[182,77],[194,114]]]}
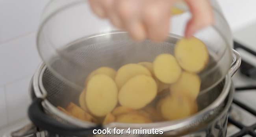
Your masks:
{"label": "large fully visible upright oval potato slice at the pile's left", "polygon": [[98,117],[109,114],[117,105],[117,85],[104,74],[93,76],[86,88],[85,102],[88,110]]}

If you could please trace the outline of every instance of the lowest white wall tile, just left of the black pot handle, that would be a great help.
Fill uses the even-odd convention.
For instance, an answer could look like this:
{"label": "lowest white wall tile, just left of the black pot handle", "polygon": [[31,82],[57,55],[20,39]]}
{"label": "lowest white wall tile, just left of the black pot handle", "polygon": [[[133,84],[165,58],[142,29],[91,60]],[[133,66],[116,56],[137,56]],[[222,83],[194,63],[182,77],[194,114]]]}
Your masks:
{"label": "lowest white wall tile, just left of the black pot handle", "polygon": [[8,123],[27,116],[27,108],[31,103],[28,86],[31,78],[25,78],[6,85],[6,104]]}

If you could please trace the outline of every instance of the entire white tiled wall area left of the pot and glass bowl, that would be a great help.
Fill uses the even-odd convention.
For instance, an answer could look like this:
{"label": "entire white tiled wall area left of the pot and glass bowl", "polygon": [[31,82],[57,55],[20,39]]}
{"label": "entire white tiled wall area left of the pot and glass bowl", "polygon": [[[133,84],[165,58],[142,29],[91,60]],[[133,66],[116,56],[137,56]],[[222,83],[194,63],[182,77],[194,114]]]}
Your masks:
{"label": "entire white tiled wall area left of the pot and glass bowl", "polygon": [[28,84],[41,62],[35,35],[50,0],[0,0],[0,129],[26,117]]}

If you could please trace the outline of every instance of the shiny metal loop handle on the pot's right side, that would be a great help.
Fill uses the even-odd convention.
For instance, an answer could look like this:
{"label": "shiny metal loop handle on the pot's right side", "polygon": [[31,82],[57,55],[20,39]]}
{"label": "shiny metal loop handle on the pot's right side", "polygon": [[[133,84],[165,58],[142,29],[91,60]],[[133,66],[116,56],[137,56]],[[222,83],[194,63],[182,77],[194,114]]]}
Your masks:
{"label": "shiny metal loop handle on the pot's right side", "polygon": [[229,69],[230,76],[233,76],[241,65],[241,55],[234,49],[232,49],[232,64]]}

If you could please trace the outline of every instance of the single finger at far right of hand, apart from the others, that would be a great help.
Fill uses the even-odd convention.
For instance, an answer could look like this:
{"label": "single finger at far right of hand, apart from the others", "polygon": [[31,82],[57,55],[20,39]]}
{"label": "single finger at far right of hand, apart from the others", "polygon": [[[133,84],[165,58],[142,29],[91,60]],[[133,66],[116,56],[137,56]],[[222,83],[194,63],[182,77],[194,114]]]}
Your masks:
{"label": "single finger at far right of hand, apart from the others", "polygon": [[185,36],[191,37],[196,31],[213,24],[213,13],[208,0],[186,0],[192,13],[187,23]]}

